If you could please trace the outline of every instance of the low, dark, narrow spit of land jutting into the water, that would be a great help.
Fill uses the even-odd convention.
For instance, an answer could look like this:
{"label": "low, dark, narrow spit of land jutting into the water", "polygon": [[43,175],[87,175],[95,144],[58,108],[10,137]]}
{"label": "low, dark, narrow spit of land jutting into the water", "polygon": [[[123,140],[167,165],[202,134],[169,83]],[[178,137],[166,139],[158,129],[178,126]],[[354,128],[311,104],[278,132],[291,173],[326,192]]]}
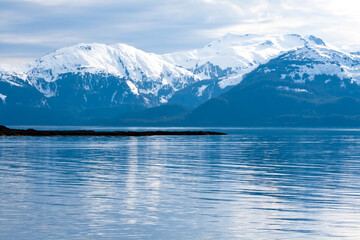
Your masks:
{"label": "low, dark, narrow spit of land jutting into the water", "polygon": [[0,125],[0,136],[161,136],[161,135],[227,135],[220,132],[209,131],[93,131],[93,130],[71,130],[71,131],[47,131],[35,129],[10,129]]}

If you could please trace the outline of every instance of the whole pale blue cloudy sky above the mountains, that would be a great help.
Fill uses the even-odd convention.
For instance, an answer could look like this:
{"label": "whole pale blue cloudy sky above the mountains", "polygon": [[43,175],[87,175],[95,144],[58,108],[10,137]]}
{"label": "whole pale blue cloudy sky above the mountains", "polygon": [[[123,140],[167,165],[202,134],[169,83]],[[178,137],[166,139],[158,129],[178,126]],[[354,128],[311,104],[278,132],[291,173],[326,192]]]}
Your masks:
{"label": "whole pale blue cloudy sky above the mountains", "polygon": [[356,0],[0,0],[0,63],[77,43],[147,52],[200,48],[226,33],[315,35],[360,46]]}

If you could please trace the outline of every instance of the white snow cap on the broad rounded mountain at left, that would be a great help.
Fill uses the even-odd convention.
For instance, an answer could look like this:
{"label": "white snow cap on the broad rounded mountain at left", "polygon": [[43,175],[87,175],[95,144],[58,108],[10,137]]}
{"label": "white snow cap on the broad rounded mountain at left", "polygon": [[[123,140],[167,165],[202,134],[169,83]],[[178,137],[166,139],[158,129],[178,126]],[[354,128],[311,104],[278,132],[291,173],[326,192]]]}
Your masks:
{"label": "white snow cap on the broad rounded mountain at left", "polygon": [[112,75],[132,81],[130,89],[133,93],[139,91],[155,95],[165,85],[176,91],[199,79],[190,71],[164,61],[159,55],[122,43],[80,43],[61,48],[28,64],[2,66],[0,71],[2,79],[16,76],[47,97],[55,95],[47,85],[67,73]]}

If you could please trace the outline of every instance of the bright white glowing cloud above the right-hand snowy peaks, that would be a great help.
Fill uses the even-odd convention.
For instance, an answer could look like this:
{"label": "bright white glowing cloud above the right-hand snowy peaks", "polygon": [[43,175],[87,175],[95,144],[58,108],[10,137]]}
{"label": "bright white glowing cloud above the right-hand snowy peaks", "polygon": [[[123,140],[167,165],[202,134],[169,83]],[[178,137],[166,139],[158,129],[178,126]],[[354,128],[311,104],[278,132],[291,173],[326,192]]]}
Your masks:
{"label": "bright white glowing cloud above the right-hand snowy peaks", "polygon": [[[215,4],[214,2],[211,2]],[[244,7],[244,2],[237,1]],[[234,11],[237,21],[220,27],[202,29],[205,37],[220,37],[225,33],[301,33],[313,34],[336,45],[359,42],[360,2],[344,0],[263,0],[253,6],[245,6],[246,11]],[[219,7],[219,5],[217,5]]]}

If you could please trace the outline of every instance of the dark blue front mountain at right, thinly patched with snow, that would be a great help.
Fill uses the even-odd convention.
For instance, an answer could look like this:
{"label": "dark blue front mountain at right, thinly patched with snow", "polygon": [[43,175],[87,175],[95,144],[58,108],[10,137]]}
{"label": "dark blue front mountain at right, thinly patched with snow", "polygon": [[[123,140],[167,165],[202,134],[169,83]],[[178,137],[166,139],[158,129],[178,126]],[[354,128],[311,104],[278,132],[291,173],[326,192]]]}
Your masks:
{"label": "dark blue front mountain at right, thinly patched with snow", "polygon": [[189,116],[193,124],[360,126],[360,58],[326,45],[284,52]]}

